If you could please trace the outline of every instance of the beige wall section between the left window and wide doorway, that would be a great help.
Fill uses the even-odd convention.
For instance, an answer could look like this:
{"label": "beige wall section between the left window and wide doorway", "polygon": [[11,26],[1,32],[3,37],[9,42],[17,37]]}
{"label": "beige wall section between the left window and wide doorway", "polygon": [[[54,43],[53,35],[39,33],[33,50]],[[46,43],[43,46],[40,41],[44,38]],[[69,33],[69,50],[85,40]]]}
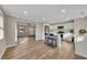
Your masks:
{"label": "beige wall section between the left window and wide doorway", "polygon": [[12,17],[6,15],[6,45],[7,47],[18,44],[18,33],[17,33],[17,20]]}

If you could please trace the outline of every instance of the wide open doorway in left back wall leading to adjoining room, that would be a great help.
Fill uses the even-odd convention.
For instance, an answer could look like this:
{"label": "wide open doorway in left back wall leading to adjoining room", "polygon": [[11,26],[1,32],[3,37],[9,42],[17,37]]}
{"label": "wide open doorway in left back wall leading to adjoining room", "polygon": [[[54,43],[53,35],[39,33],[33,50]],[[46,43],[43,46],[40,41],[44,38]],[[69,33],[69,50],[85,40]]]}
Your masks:
{"label": "wide open doorway in left back wall leading to adjoining room", "polygon": [[18,44],[35,40],[35,25],[25,22],[18,22]]}

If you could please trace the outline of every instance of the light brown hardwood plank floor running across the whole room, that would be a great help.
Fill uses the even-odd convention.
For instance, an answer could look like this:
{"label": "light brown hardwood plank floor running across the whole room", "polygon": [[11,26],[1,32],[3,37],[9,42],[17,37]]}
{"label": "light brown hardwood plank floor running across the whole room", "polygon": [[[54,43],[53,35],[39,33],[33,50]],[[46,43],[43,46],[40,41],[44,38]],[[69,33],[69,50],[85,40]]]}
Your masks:
{"label": "light brown hardwood plank floor running across the whole room", "polygon": [[62,42],[61,47],[51,47],[34,36],[19,37],[19,45],[9,47],[2,59],[77,59],[85,58],[74,53],[74,44]]}

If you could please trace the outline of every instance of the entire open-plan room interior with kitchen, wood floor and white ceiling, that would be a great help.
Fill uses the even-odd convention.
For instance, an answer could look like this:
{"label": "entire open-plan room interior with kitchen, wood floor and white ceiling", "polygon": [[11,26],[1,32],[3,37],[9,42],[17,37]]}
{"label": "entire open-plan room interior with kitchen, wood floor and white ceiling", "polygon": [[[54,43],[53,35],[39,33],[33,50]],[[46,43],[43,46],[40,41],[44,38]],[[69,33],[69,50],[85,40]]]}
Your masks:
{"label": "entire open-plan room interior with kitchen, wood floor and white ceiling", "polygon": [[2,59],[87,58],[87,6],[2,4],[0,10]]}

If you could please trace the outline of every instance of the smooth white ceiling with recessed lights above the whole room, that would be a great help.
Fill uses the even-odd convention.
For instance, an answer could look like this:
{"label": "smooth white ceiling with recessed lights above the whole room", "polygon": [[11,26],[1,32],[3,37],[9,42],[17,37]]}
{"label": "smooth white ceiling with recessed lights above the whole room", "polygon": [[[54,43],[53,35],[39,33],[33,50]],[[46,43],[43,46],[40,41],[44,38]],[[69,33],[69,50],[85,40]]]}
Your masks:
{"label": "smooth white ceiling with recessed lights above the whole room", "polygon": [[[36,22],[65,22],[67,19],[77,19],[87,15],[86,4],[4,4],[4,12],[9,15],[19,17]],[[66,11],[63,13],[62,10]],[[24,11],[28,13],[24,14]]]}

